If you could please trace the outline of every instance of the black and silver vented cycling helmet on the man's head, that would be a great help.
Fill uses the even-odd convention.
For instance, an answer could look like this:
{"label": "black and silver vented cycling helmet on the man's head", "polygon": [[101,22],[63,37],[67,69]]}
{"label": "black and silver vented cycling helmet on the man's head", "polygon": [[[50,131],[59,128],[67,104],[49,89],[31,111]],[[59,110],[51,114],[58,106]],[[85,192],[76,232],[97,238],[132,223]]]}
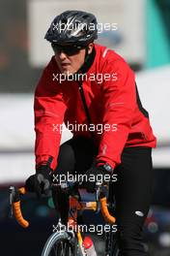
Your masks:
{"label": "black and silver vented cycling helmet on the man's head", "polygon": [[98,38],[96,16],[82,11],[66,11],[56,16],[45,39],[61,46],[86,47]]}

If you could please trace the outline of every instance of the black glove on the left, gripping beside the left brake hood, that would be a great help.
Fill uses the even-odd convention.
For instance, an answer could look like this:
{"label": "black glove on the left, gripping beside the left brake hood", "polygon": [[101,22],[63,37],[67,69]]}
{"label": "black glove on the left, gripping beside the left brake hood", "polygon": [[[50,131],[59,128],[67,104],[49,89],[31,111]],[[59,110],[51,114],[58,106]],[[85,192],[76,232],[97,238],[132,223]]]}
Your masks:
{"label": "black glove on the left, gripping beside the left brake hood", "polygon": [[25,181],[25,189],[35,192],[39,198],[48,195],[52,182],[53,171],[48,164],[42,164],[36,169],[36,175],[29,176]]}

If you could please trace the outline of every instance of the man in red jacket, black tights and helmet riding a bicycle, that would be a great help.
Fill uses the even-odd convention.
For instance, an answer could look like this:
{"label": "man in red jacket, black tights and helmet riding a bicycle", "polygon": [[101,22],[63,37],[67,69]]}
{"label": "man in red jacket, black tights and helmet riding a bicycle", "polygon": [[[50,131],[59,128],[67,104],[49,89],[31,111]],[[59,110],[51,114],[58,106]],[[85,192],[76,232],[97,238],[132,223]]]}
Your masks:
{"label": "man in red jacket, black tights and helmet riding a bicycle", "polygon": [[[133,72],[114,50],[95,44],[97,38],[96,17],[81,11],[56,16],[45,35],[54,56],[35,92],[36,175],[26,180],[26,188],[47,194],[53,172],[80,173],[94,192],[98,176],[102,185],[106,176],[117,174],[120,255],[144,256],[142,227],[151,204],[156,138]],[[63,122],[73,137],[60,146]]]}

